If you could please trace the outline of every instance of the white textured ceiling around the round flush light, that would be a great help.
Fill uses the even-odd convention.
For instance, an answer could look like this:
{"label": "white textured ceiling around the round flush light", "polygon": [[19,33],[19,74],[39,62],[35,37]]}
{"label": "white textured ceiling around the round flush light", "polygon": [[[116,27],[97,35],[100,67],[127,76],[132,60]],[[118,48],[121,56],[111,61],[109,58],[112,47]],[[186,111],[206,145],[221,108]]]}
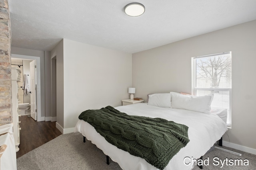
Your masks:
{"label": "white textured ceiling around the round flush light", "polygon": [[256,0],[9,0],[12,46],[51,51],[61,39],[136,53],[256,20]]}

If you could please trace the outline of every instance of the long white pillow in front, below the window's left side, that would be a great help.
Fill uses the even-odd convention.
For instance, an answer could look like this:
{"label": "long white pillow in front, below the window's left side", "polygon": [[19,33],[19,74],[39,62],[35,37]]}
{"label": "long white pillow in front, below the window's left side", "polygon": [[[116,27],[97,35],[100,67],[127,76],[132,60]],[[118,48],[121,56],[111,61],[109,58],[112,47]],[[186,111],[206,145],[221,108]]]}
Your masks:
{"label": "long white pillow in front, below the window's left side", "polygon": [[180,95],[171,93],[172,108],[198,111],[211,114],[211,103],[213,94],[206,96]]}

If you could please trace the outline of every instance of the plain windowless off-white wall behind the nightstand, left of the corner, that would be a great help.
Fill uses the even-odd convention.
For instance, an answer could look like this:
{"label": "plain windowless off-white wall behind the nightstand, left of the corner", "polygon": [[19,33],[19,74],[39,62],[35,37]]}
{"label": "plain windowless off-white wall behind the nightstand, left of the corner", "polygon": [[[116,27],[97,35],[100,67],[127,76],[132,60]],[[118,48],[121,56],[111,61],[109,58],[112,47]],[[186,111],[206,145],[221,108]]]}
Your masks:
{"label": "plain windowless off-white wall behind the nightstand, left of the corner", "polygon": [[121,106],[131,85],[132,54],[64,39],[64,129],[82,111]]}

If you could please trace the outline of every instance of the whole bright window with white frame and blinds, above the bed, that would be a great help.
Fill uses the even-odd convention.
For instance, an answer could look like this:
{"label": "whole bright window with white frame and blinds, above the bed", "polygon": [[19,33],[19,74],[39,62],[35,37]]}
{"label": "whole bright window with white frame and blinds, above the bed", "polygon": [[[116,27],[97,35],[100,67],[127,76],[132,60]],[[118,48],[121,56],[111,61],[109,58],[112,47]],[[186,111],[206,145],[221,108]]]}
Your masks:
{"label": "whole bright window with white frame and blinds, above the bed", "polygon": [[227,109],[231,127],[231,51],[192,58],[192,94],[214,94],[211,107]]}

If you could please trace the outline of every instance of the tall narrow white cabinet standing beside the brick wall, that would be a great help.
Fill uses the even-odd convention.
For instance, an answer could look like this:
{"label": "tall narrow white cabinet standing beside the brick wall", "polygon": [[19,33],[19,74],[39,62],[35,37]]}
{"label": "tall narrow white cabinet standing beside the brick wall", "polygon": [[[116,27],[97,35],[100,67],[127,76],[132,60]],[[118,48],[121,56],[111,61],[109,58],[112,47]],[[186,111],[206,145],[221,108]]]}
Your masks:
{"label": "tall narrow white cabinet standing beside the brick wall", "polygon": [[18,82],[20,82],[20,69],[12,67],[12,123],[13,123],[13,135],[16,152],[18,152],[20,145],[20,125],[19,125],[19,112],[18,112]]}

